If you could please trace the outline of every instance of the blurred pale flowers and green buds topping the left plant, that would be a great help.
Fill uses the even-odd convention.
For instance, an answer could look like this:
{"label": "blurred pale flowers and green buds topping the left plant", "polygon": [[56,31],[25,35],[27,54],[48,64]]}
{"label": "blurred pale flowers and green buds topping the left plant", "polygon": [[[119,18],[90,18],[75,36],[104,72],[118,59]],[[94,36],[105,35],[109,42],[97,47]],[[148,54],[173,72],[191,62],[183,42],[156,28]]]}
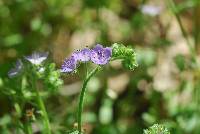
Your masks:
{"label": "blurred pale flowers and green buds topping the left plant", "polygon": [[[48,87],[48,90],[56,91],[62,85],[63,81],[60,79],[60,70],[56,69],[54,63],[42,64],[47,59],[48,54],[48,52],[33,52],[29,56],[24,56],[24,59],[18,60],[15,67],[8,72],[9,78],[33,72],[31,74],[34,74],[38,79],[44,80],[44,85]],[[26,66],[27,64],[23,60],[33,66],[31,68]]]}

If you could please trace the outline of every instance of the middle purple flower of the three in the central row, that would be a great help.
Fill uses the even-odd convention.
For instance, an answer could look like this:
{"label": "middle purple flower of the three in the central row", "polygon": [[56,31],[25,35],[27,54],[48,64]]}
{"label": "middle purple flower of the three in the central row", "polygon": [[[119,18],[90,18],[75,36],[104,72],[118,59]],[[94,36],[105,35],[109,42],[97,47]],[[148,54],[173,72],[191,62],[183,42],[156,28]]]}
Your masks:
{"label": "middle purple flower of the three in the central row", "polygon": [[90,60],[90,52],[90,49],[84,48],[81,51],[73,53],[72,55],[77,61],[87,62]]}

